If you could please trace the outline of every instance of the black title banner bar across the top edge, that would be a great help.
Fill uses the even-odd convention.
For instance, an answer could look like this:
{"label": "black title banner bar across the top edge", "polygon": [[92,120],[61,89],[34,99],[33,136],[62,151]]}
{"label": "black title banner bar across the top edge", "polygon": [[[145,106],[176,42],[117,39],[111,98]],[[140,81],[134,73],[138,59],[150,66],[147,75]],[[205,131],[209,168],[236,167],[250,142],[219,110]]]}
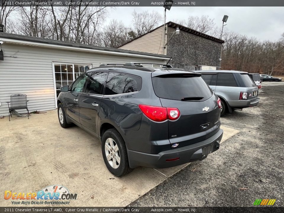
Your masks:
{"label": "black title banner bar across the top edge", "polygon": [[[5,6],[93,6],[93,7],[157,7],[164,6],[165,0],[0,0]],[[282,7],[283,0],[174,0],[172,7]]]}

